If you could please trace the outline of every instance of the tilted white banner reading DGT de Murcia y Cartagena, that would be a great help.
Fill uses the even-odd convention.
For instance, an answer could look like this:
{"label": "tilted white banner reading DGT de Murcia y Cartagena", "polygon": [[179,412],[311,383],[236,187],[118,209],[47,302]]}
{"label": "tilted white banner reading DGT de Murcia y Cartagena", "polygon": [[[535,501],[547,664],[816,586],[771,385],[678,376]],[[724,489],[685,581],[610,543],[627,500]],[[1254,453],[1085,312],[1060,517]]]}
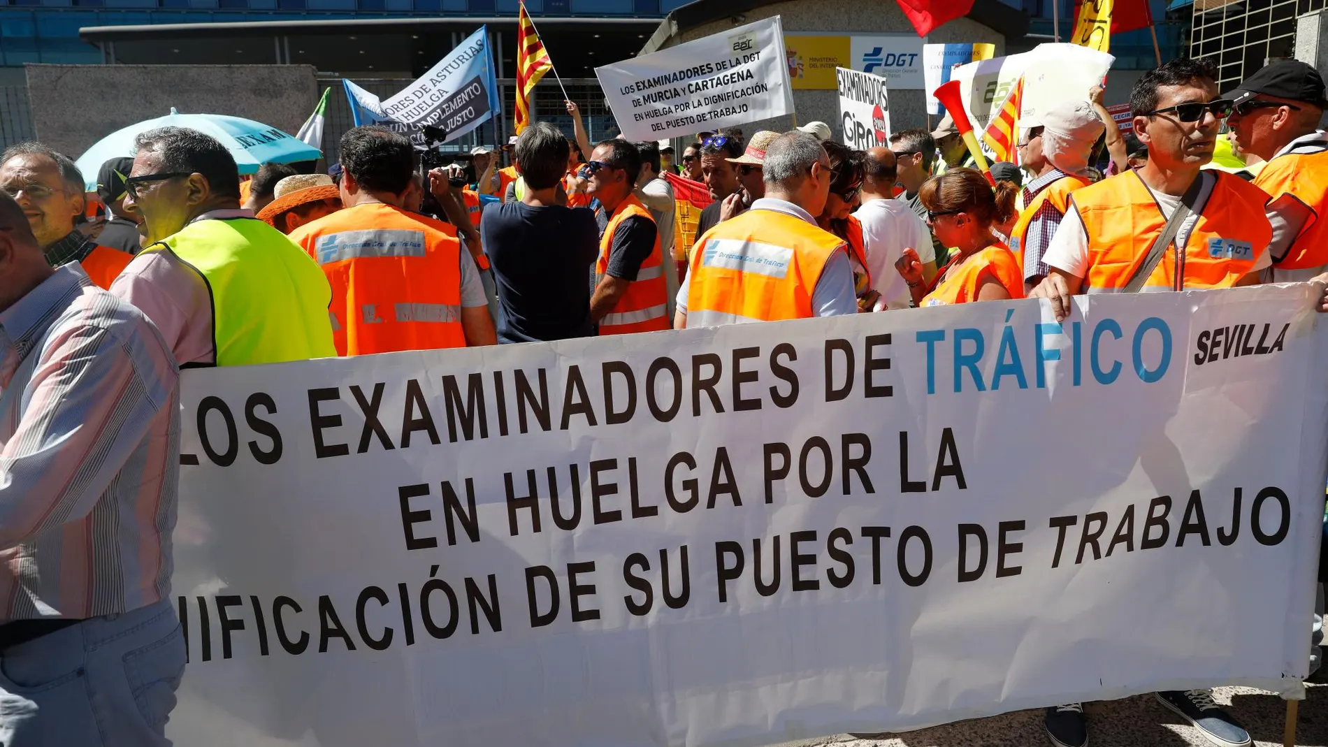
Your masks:
{"label": "tilted white banner reading DGT de Murcia y Cartagena", "polygon": [[780,16],[595,68],[595,76],[629,141],[793,113]]}

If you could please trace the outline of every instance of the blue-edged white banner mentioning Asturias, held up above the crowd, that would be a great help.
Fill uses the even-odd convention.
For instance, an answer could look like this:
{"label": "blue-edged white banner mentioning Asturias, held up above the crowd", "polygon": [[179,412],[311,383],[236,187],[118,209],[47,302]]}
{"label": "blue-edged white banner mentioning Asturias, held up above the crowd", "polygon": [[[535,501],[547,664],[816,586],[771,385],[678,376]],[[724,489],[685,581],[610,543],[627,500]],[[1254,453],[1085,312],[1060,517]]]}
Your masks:
{"label": "blue-edged white banner mentioning Asturias, held up above the crowd", "polygon": [[382,102],[382,114],[408,125],[438,127],[440,142],[453,141],[483,125],[501,105],[494,78],[489,31],[466,37],[437,65]]}

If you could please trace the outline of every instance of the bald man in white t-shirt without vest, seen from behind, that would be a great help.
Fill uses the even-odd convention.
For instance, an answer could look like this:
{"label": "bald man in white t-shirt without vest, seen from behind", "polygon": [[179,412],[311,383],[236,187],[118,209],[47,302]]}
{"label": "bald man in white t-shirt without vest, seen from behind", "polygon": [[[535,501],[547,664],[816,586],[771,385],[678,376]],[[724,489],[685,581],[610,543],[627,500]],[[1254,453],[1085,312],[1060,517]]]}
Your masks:
{"label": "bald man in white t-shirt without vest, seen from behind", "polygon": [[867,269],[875,291],[880,293],[878,310],[907,309],[912,304],[912,296],[908,293],[908,283],[895,271],[895,260],[904,249],[916,251],[923,263],[923,281],[931,283],[936,276],[931,232],[907,202],[891,199],[899,176],[895,154],[888,147],[869,149],[865,166],[862,207],[853,215],[862,223]]}

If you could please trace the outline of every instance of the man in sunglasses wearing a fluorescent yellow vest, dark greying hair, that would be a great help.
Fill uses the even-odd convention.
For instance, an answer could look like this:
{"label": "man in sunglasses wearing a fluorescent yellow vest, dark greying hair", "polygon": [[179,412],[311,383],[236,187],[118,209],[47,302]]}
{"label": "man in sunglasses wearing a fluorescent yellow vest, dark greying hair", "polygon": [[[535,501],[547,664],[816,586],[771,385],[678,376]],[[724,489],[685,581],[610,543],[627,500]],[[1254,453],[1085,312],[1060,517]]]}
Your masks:
{"label": "man in sunglasses wearing a fluorescent yellow vest, dark greying hair", "polygon": [[335,357],[319,265],[240,208],[235,158],[185,127],[138,135],[125,206],[143,216],[143,251],[110,292],[162,332],[181,366]]}

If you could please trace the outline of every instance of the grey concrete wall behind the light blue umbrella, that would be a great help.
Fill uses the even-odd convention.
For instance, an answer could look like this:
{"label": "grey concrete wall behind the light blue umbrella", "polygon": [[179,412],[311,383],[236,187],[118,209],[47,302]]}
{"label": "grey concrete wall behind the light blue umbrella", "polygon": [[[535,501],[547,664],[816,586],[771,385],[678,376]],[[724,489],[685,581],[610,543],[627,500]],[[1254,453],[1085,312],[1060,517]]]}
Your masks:
{"label": "grey concrete wall behind the light blue umbrella", "polygon": [[311,65],[27,65],[37,139],[78,158],[170,114],[230,114],[295,134],[317,105]]}

